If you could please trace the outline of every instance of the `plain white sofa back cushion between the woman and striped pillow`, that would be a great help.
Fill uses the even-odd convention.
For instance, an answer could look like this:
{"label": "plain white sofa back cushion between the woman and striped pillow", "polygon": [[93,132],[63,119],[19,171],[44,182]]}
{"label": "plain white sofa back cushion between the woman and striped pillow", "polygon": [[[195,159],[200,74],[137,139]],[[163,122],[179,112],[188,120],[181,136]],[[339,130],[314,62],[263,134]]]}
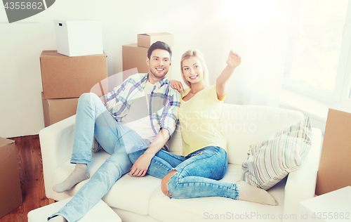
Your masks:
{"label": "plain white sofa back cushion between the woman and striped pillow", "polygon": [[275,107],[224,104],[220,118],[222,133],[227,138],[228,162],[241,165],[247,159],[250,145],[301,121],[303,114]]}

